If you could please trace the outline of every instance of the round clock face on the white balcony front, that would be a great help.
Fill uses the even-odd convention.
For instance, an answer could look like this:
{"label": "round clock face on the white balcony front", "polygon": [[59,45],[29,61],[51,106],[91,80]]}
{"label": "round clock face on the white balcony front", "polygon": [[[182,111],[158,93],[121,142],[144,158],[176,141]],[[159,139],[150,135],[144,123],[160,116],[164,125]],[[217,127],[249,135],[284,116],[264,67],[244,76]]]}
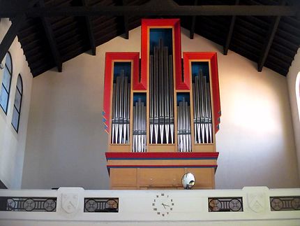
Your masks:
{"label": "round clock face on the white balcony front", "polygon": [[169,195],[160,193],[156,195],[152,202],[153,211],[160,216],[167,216],[174,208],[174,202]]}

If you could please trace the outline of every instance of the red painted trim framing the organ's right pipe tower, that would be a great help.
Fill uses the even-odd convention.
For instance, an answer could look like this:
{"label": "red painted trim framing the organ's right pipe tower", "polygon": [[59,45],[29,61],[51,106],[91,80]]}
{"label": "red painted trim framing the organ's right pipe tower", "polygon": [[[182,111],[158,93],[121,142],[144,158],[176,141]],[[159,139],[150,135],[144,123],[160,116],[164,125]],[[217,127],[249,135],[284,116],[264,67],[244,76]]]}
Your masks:
{"label": "red painted trim framing the organ's right pipe tower", "polygon": [[190,60],[208,59],[211,62],[211,85],[213,92],[213,122],[215,132],[218,132],[220,124],[220,89],[218,80],[218,60],[216,52],[183,52],[183,73],[184,77],[190,78]]}

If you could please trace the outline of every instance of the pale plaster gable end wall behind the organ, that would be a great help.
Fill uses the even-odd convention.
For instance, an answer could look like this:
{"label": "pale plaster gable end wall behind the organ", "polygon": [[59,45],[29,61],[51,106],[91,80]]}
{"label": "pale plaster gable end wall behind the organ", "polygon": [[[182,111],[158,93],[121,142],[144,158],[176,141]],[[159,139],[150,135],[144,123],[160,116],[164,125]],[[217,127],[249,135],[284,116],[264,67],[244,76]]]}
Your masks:
{"label": "pale plaster gable end wall behind the organ", "polygon": [[[299,187],[287,80],[220,45],[182,29],[183,51],[218,52],[222,118],[216,188]],[[107,189],[102,125],[105,52],[139,51],[140,27],[97,55],[82,54],[33,79],[22,188]]]}

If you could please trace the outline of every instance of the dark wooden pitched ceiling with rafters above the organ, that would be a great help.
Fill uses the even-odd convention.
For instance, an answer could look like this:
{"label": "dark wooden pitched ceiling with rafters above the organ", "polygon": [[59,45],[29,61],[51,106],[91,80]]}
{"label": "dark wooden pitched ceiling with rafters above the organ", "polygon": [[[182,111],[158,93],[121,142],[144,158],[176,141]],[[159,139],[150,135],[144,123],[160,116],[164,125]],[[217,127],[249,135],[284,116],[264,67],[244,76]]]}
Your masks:
{"label": "dark wooden pitched ceiling with rafters above the organ", "polygon": [[[12,21],[16,24],[17,19],[26,18],[20,27],[17,27],[16,34],[34,77],[54,67],[62,71],[63,62],[83,52],[90,51],[92,55],[96,55],[96,46],[116,36],[123,35],[124,38],[128,38],[128,31],[140,26],[141,15],[154,18],[179,17],[181,26],[190,30],[190,38],[193,38],[194,33],[200,34],[223,45],[225,55],[228,50],[232,50],[257,62],[258,71],[266,66],[283,76],[287,75],[300,44],[300,17],[294,10],[299,10],[299,1],[31,0],[31,3],[36,10],[25,10],[21,19],[12,17]],[[189,8],[177,10],[177,4]],[[247,6],[249,10],[234,8],[235,5]],[[119,11],[132,11],[122,14],[123,11],[118,13],[119,11],[112,10],[110,14],[110,8],[105,6],[119,6]],[[233,10],[225,7],[209,8],[213,6],[230,6]],[[257,8],[255,11],[255,8],[249,6],[271,7]],[[38,10],[53,7],[61,11],[52,10],[51,13]],[[106,13],[99,13],[103,8]],[[264,10],[265,15],[262,15],[260,10]],[[0,16],[8,17],[6,12],[10,13],[9,7],[6,11],[0,10]],[[18,11],[20,12],[22,9]],[[48,16],[43,17],[47,13]]]}

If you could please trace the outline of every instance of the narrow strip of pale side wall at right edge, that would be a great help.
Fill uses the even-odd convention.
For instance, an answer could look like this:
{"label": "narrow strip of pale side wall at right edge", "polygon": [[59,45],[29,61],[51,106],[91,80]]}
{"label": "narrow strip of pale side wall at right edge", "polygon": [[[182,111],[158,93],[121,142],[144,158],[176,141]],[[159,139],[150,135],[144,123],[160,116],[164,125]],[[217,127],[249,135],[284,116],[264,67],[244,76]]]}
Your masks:
{"label": "narrow strip of pale side wall at right edge", "polygon": [[297,55],[294,57],[294,61],[290,66],[290,71],[287,74],[287,84],[290,92],[290,106],[292,111],[294,137],[295,137],[295,143],[297,149],[298,170],[300,175],[300,112],[299,112],[300,97],[299,97],[298,104],[296,99],[296,78],[299,72],[300,72],[300,50],[298,50]]}

